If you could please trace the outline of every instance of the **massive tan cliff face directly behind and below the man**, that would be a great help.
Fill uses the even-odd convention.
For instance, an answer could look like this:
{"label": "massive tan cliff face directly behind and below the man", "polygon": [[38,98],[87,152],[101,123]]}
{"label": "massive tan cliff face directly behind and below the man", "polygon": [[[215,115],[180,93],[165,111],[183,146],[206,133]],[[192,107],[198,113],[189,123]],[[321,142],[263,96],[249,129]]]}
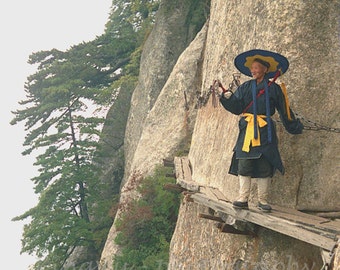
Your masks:
{"label": "massive tan cliff face directly behind and below the man", "polygon": [[[239,53],[254,48],[276,51],[290,61],[281,80],[287,85],[292,109],[308,120],[338,128],[339,11],[338,1],[212,0],[202,92],[214,79],[228,86]],[[209,102],[198,111],[189,153],[193,179],[219,188],[231,200],[238,191],[237,178],[227,174],[237,122],[237,116]],[[270,202],[304,210],[338,210],[339,133],[306,130],[294,136],[279,123],[277,130],[286,174],[274,176]],[[250,203],[256,203],[254,185]],[[169,269],[322,266],[317,247],[266,229],[255,239],[218,234],[213,222],[197,219],[199,212],[207,211],[197,207],[188,202],[181,206]]]}

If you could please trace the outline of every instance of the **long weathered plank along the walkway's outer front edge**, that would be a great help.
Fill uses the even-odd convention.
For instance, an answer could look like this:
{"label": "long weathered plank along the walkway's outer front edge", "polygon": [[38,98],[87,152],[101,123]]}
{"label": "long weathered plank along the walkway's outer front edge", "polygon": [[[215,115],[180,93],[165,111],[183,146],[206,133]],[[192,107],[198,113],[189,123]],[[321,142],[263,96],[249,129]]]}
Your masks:
{"label": "long weathered plank along the walkway's outer front edge", "polygon": [[205,194],[196,193],[191,195],[191,198],[196,203],[203,204],[214,209],[215,211],[224,212],[235,217],[238,220],[252,222],[267,229],[321,247],[325,250],[331,251],[337,241],[337,235],[335,234],[323,235],[323,232],[321,230],[311,230],[311,228],[309,228],[308,226],[302,226],[301,224],[297,224],[293,221],[285,220],[283,218],[279,218],[268,213],[266,214],[249,210],[236,210],[232,207],[230,203],[212,200]]}

